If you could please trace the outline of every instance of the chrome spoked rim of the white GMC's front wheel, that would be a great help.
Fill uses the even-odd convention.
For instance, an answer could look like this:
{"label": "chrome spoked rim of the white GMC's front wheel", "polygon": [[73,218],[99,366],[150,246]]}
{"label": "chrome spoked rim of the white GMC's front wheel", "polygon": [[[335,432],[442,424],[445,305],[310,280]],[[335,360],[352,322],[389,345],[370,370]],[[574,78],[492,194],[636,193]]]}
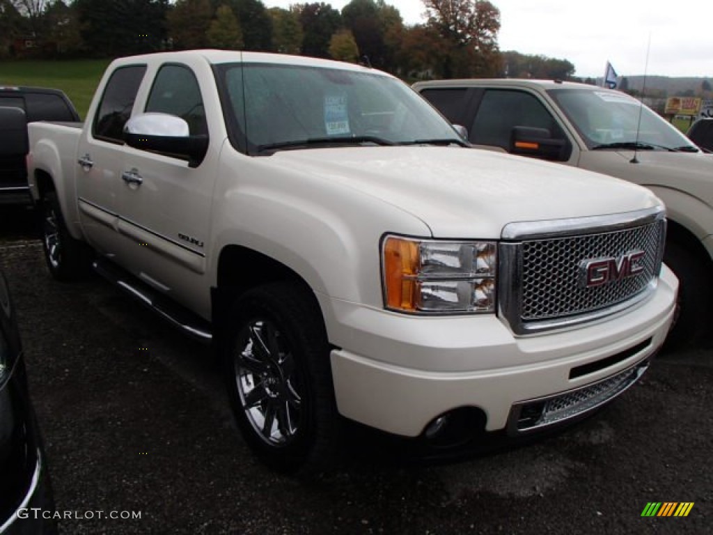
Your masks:
{"label": "chrome spoked rim of the white GMC's front wheel", "polygon": [[251,320],[237,335],[233,355],[240,404],[252,429],[270,446],[287,446],[304,419],[292,349],[268,320]]}

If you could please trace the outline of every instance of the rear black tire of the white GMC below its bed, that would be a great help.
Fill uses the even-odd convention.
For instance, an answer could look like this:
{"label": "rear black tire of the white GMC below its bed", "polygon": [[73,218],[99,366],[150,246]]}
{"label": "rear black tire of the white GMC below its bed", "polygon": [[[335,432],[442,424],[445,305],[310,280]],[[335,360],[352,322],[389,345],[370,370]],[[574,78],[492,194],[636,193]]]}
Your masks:
{"label": "rear black tire of the white GMC below its bed", "polygon": [[45,193],[41,204],[42,245],[51,275],[56,280],[86,277],[90,255],[81,241],[72,238],[64,223],[57,193]]}

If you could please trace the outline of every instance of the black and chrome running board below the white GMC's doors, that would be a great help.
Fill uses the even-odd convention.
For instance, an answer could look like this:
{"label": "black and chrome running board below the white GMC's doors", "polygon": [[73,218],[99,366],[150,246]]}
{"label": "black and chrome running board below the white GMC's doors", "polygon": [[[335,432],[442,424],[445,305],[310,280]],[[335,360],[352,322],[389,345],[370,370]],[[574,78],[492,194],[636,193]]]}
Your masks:
{"label": "black and chrome running board below the white GMC's doors", "polygon": [[178,327],[186,335],[199,342],[210,344],[212,333],[209,322],[193,314],[190,310],[171,302],[167,297],[140,282],[129,272],[109,260],[98,258],[94,260],[92,267],[99,275],[109,282],[113,282],[128,295],[138,299],[143,305],[158,313],[160,317],[163,317],[174,327]]}

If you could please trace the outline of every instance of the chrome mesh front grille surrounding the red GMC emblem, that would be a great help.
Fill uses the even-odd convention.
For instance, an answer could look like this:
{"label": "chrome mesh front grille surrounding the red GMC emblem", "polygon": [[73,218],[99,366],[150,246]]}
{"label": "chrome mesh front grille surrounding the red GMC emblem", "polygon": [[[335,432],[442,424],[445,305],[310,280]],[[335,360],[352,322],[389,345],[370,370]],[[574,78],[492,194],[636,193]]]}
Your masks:
{"label": "chrome mesh front grille surrounding the red GMC emblem", "polygon": [[[515,223],[506,227],[503,237],[511,240],[500,247],[501,316],[514,332],[528,334],[594,320],[648,295],[661,269],[665,218],[658,209]],[[617,263],[635,251],[644,255],[634,275],[612,277],[600,285],[583,282],[583,265],[600,259]]]}

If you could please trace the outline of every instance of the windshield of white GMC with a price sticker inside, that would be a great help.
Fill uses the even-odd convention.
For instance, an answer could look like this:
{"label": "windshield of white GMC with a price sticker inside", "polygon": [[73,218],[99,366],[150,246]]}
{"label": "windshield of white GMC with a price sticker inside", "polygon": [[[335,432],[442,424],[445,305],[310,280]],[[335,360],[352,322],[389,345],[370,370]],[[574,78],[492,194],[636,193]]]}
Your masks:
{"label": "windshield of white GMC with a price sticker inside", "polygon": [[249,154],[345,143],[463,144],[411,88],[379,73],[264,63],[216,72],[231,141]]}

